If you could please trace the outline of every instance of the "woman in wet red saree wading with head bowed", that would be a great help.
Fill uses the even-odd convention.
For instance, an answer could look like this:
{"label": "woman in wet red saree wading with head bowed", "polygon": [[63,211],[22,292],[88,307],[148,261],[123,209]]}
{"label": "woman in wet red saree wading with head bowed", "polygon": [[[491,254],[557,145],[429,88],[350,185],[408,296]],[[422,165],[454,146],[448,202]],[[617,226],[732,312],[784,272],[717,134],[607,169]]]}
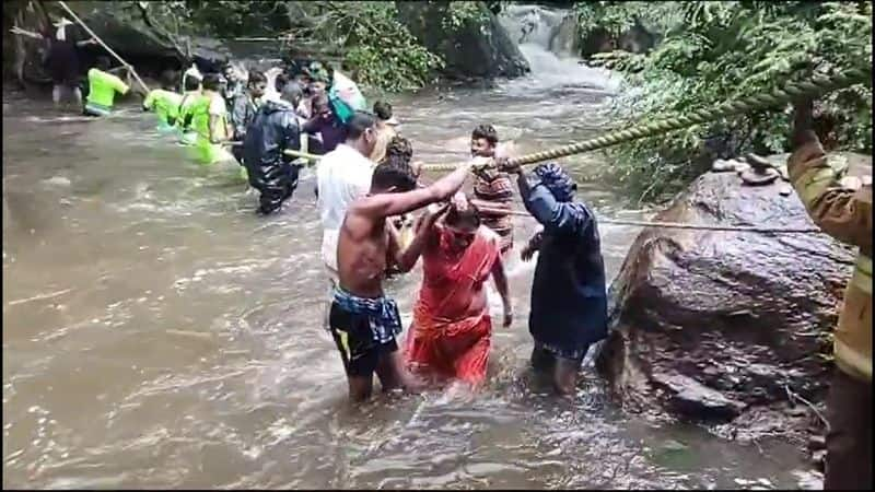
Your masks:
{"label": "woman in wet red saree wading with head bowed", "polygon": [[405,347],[411,370],[438,380],[482,383],[492,335],[485,289],[490,276],[504,304],[504,326],[512,319],[500,248],[498,234],[480,225],[467,200],[422,218],[405,253],[406,262],[422,256],[423,272]]}

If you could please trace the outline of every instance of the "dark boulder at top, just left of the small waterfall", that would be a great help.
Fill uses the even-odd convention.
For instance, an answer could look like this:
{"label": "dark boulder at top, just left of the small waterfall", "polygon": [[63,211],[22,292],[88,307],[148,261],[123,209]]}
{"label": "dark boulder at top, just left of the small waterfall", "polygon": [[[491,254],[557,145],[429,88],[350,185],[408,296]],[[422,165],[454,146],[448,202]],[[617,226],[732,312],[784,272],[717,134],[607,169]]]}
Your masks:
{"label": "dark boulder at top, just left of the small waterfall", "polygon": [[398,20],[429,50],[443,57],[444,75],[455,79],[521,77],[529,72],[520,48],[483,2],[482,22],[454,28],[448,1],[395,2]]}

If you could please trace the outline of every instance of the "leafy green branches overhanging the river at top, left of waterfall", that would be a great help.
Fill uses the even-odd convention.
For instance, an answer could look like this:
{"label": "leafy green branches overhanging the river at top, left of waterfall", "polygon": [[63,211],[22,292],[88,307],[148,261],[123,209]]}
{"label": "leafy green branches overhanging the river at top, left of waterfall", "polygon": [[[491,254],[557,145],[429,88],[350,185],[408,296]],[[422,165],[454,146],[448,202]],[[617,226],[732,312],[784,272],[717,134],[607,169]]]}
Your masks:
{"label": "leafy green branches overhanging the river at top, left of waterfall", "polygon": [[[445,27],[482,22],[477,2],[447,2]],[[215,37],[285,37],[287,46],[304,48],[337,62],[372,87],[418,89],[443,67],[398,22],[392,1],[161,1],[149,9],[168,31],[201,32]],[[179,31],[179,32],[182,32]]]}

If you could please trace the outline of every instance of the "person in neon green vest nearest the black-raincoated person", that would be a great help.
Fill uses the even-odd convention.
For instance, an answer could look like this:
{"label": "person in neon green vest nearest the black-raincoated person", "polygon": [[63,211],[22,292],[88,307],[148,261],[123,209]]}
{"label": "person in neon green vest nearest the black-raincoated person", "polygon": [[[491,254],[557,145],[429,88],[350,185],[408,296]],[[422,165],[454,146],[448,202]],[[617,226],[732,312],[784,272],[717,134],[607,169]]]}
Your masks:
{"label": "person in neon green vest nearest the black-raincoated person", "polygon": [[191,126],[197,132],[195,159],[201,164],[233,159],[221,145],[231,134],[221,85],[219,73],[203,75],[203,93],[191,108]]}

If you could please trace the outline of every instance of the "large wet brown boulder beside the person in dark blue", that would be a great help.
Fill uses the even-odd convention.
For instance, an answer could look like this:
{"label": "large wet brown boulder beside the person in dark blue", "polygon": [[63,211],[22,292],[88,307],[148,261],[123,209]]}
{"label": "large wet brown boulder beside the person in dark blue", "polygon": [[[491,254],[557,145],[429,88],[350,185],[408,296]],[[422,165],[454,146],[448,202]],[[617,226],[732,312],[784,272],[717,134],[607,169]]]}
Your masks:
{"label": "large wet brown boulder beside the person in dark blue", "polygon": [[[735,172],[701,176],[655,220],[815,229],[788,183],[746,186]],[[597,367],[633,411],[724,423],[732,435],[791,431],[825,397],[853,261],[820,233],[648,227],[611,285]]]}

